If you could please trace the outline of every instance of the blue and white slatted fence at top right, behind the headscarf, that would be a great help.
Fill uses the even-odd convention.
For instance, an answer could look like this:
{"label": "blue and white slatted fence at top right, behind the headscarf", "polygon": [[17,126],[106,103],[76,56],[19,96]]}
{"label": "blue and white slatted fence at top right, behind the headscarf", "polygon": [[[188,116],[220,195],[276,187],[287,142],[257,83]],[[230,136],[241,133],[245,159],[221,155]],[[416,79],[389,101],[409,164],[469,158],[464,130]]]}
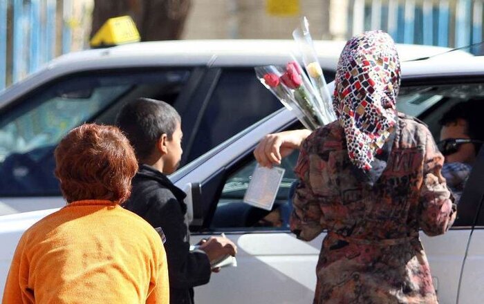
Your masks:
{"label": "blue and white slatted fence at top right, behind the headscarf", "polygon": [[349,10],[351,35],[382,29],[399,43],[453,48],[483,40],[483,0],[351,0]]}

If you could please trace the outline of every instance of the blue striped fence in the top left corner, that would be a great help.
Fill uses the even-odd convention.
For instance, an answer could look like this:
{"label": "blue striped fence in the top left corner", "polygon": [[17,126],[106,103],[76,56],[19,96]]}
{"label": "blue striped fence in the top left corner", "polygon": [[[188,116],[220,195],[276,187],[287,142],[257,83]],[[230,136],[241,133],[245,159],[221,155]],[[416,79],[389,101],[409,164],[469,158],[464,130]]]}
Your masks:
{"label": "blue striped fence in the top left corner", "polygon": [[73,0],[0,0],[0,90],[71,50]]}

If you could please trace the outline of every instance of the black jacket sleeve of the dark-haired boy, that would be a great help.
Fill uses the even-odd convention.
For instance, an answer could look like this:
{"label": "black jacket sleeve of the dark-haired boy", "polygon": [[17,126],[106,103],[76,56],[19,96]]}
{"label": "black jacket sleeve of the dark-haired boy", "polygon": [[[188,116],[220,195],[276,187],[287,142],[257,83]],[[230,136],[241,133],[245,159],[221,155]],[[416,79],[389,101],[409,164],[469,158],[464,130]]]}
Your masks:
{"label": "black jacket sleeve of the dark-haired boy", "polygon": [[168,189],[158,189],[149,198],[145,219],[153,227],[161,227],[167,238],[170,288],[190,288],[210,281],[210,260],[203,251],[189,251],[188,231],[180,203]]}

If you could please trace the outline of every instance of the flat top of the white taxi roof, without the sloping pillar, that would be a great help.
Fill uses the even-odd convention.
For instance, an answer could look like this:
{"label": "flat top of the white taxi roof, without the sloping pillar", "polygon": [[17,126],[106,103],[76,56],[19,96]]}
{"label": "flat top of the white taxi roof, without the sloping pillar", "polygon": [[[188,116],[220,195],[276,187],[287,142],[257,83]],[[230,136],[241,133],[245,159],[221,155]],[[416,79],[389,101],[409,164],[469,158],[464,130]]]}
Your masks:
{"label": "flat top of the white taxi roof, without the sloping pillar", "polygon": [[[346,41],[314,41],[315,50],[326,68],[336,67],[337,59]],[[420,57],[429,57],[445,53],[450,48],[439,46],[421,46],[397,44],[400,60],[407,61]],[[172,66],[217,66],[223,62],[233,66],[254,66],[260,64],[286,64],[288,56],[297,53],[297,44],[293,40],[176,40],[148,41],[124,44],[112,48],[83,50],[62,55],[50,61],[54,66],[71,66],[75,62],[104,65],[116,61],[120,66],[132,66],[142,63]],[[454,55],[457,53],[454,53]],[[458,54],[472,56],[459,51]],[[133,62],[125,59],[135,59]]]}

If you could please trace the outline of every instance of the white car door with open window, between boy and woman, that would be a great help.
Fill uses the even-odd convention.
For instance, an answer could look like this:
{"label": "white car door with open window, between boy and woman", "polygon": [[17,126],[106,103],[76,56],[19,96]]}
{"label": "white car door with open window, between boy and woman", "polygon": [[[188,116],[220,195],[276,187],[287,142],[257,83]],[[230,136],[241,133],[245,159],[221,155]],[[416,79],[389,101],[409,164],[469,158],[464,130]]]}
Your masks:
{"label": "white car door with open window, between boy and woman", "polygon": [[[214,199],[216,209],[205,231],[224,232],[239,248],[238,267],[222,269],[211,283],[198,287],[200,303],[311,303],[315,265],[324,234],[312,242],[297,240],[289,231],[290,193],[297,153],[283,160],[286,169],[272,211],[243,202],[256,162],[252,151],[230,164]],[[213,285],[211,285],[213,284]],[[219,290],[214,294],[214,287]],[[230,292],[223,292],[230,290]]]}

